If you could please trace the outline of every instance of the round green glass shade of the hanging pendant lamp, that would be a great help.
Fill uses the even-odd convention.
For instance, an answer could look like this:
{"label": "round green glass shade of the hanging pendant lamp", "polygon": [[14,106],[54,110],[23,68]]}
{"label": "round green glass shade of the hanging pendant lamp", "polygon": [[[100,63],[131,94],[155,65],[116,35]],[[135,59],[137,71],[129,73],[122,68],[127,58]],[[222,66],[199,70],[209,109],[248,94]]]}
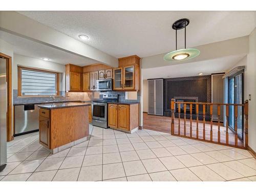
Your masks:
{"label": "round green glass shade of the hanging pendant lamp", "polygon": [[179,49],[164,55],[166,61],[183,61],[194,58],[200,54],[198,49]]}

